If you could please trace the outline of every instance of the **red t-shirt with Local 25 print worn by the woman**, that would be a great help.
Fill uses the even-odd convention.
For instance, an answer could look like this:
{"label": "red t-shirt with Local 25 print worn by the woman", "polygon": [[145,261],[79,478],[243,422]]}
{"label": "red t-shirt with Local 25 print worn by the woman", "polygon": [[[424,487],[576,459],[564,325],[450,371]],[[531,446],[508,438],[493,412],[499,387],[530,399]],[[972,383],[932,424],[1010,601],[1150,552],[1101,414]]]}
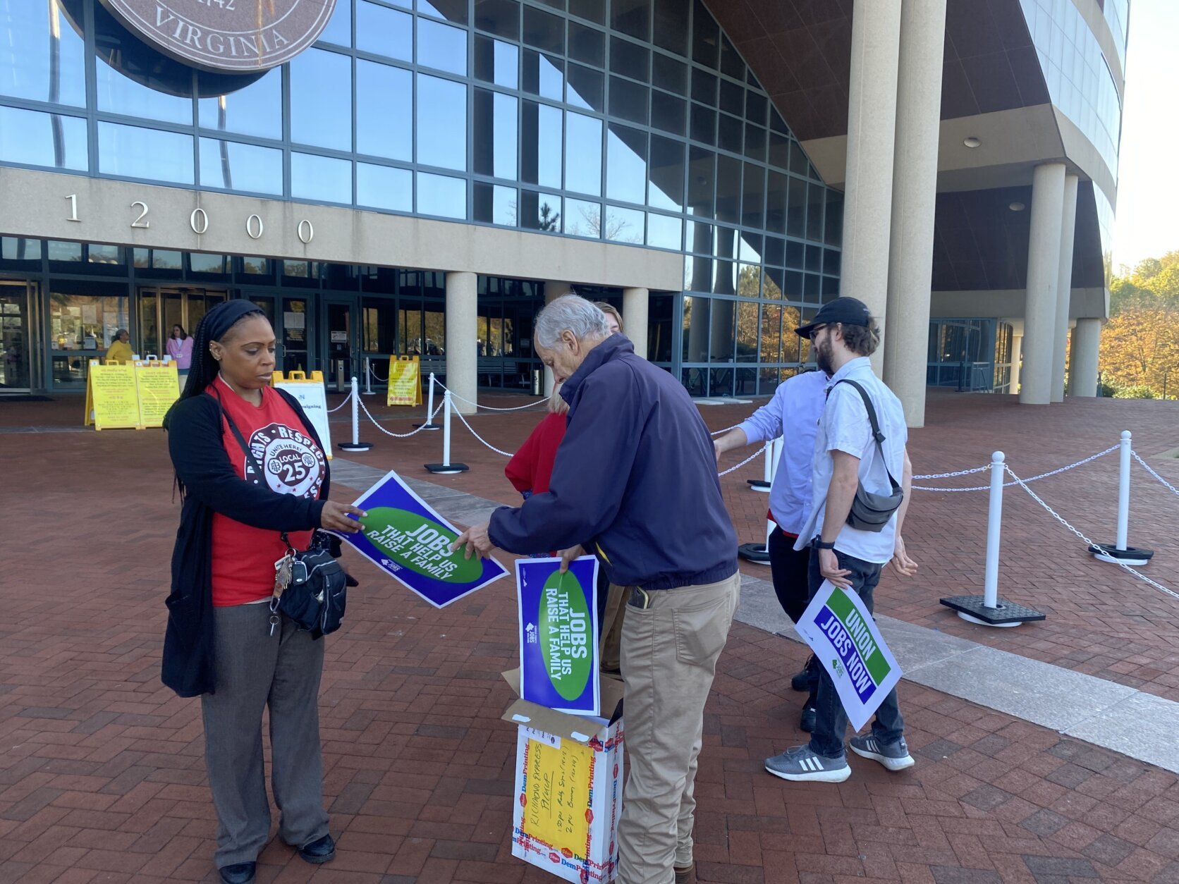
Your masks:
{"label": "red t-shirt with Local 25 print worn by the woman", "polygon": [[[265,470],[266,486],[278,494],[318,499],[328,473],[323,451],[309,437],[303,422],[278,391],[262,388],[255,408],[224,381],[213,381],[222,408],[233,418],[253,459]],[[253,481],[245,451],[222,421],[222,442],[238,477]],[[290,532],[291,546],[305,549],[312,532]],[[255,528],[213,513],[213,606],[245,605],[268,598],[275,587],[275,562],[286,553],[278,532]]]}

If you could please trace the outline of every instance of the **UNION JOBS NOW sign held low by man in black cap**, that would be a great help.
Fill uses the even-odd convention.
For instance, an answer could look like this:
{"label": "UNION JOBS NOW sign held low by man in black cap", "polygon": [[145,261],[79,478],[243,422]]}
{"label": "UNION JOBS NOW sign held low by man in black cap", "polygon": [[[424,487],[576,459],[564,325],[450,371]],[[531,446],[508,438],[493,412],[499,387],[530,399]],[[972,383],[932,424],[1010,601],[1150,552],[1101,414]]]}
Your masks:
{"label": "UNION JOBS NOW sign held low by man in black cap", "polygon": [[901,680],[901,667],[859,595],[824,580],[795,628],[831,675],[851,726],[861,730]]}

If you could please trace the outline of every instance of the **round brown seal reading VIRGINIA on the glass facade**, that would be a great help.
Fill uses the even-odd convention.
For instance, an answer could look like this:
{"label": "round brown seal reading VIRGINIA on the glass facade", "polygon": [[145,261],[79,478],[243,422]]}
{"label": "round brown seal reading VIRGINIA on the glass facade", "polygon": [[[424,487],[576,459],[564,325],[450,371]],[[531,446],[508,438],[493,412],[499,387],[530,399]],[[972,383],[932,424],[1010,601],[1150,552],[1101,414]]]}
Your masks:
{"label": "round brown seal reading VIRGINIA on the glass facade", "polygon": [[133,34],[186,65],[249,73],[289,61],[336,0],[101,0]]}

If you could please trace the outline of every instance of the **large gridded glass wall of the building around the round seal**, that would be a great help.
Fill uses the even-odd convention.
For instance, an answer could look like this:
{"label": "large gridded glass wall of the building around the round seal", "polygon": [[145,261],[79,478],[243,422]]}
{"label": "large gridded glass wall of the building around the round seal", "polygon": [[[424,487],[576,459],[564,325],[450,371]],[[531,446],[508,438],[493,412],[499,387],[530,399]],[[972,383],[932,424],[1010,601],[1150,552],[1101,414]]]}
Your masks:
{"label": "large gridded glass wall of the building around the round seal", "polygon": [[[0,0],[0,37],[6,165],[684,253],[648,352],[694,394],[771,392],[838,291],[842,194],[699,0],[338,0],[246,79],[147,50],[98,0]],[[499,309],[481,358],[514,355]],[[404,337],[384,315],[355,322]]]}

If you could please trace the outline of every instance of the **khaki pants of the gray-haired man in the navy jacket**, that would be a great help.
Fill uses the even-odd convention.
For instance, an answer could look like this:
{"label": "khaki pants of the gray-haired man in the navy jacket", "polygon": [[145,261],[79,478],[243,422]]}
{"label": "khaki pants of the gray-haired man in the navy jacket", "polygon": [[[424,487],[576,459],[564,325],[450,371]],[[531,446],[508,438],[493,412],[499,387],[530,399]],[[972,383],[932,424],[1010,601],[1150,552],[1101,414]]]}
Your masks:
{"label": "khaki pants of the gray-haired man in the navy jacket", "polygon": [[[737,611],[740,574],[651,593],[623,621],[630,779],[618,823],[620,884],[672,884],[692,864],[704,701]],[[628,595],[627,591],[627,595]]]}

